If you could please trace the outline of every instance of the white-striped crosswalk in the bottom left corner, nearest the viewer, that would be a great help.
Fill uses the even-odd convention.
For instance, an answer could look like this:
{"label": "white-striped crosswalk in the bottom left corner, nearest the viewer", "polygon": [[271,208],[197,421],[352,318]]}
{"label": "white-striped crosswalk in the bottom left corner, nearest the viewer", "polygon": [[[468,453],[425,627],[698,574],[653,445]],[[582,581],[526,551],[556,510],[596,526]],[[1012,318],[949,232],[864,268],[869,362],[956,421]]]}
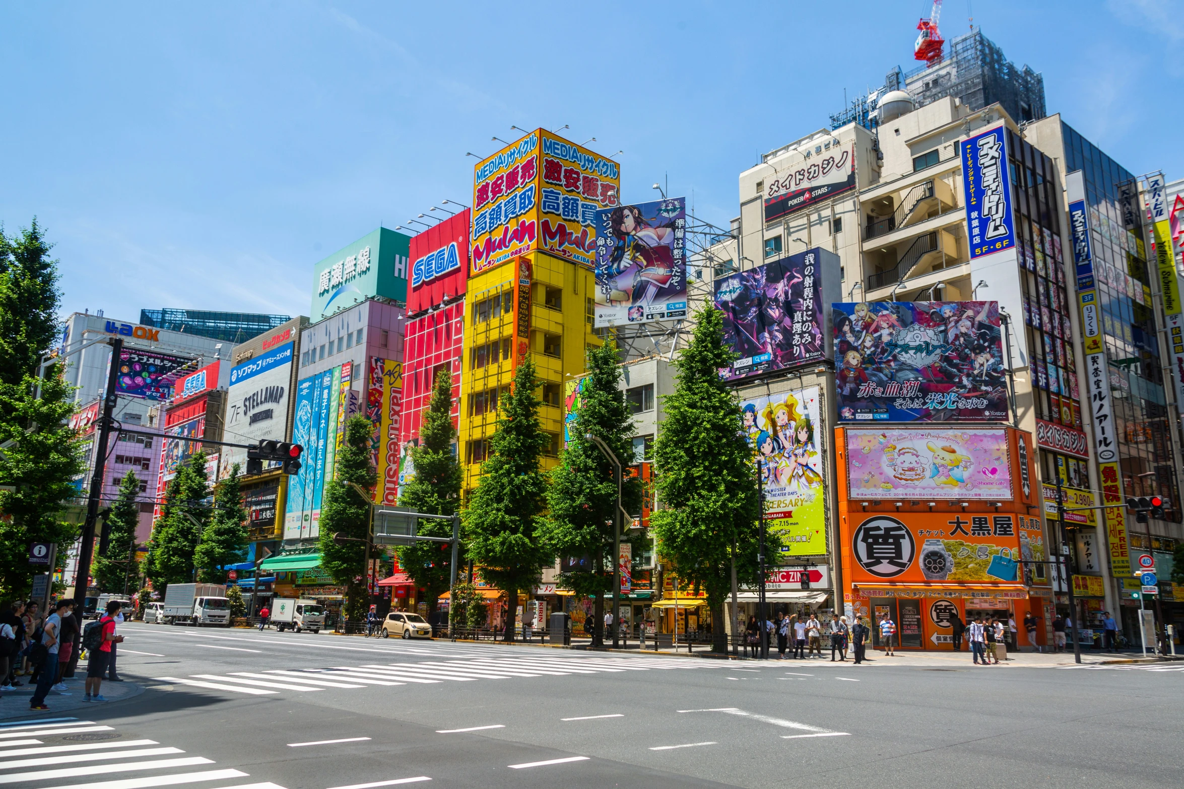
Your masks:
{"label": "white-striped crosswalk in the bottom left corner, nearest the viewer", "polygon": [[284,789],[251,782],[250,774],[219,768],[204,756],[155,739],[77,742],[83,732],[114,732],[94,720],[41,718],[0,724],[0,787],[38,789]]}

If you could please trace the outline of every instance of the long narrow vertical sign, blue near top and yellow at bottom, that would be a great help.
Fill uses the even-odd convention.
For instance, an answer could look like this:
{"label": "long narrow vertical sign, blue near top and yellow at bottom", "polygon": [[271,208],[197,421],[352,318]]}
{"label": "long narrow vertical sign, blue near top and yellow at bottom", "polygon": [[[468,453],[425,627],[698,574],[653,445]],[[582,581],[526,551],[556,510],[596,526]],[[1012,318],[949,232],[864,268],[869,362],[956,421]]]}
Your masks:
{"label": "long narrow vertical sign, blue near top and yellow at bottom", "polygon": [[[1093,287],[1094,267],[1088,244],[1079,245],[1077,234],[1089,237],[1087,211],[1073,215],[1073,206],[1085,207],[1086,187],[1082,173],[1069,173],[1066,177],[1069,196],[1070,222],[1074,234],[1074,263],[1077,266],[1077,300],[1081,309],[1082,347],[1086,351],[1086,390],[1082,399],[1089,401],[1093,418],[1093,453],[1098,458],[1098,473],[1102,483],[1102,504],[1106,507],[1106,541],[1109,547],[1111,573],[1114,576],[1130,575],[1131,556],[1126,539],[1126,512],[1122,499],[1122,479],[1119,470],[1118,429],[1111,399],[1109,370],[1106,363],[1106,345],[1102,343],[1101,315],[1098,291]],[[1090,284],[1081,289],[1082,280]]]}

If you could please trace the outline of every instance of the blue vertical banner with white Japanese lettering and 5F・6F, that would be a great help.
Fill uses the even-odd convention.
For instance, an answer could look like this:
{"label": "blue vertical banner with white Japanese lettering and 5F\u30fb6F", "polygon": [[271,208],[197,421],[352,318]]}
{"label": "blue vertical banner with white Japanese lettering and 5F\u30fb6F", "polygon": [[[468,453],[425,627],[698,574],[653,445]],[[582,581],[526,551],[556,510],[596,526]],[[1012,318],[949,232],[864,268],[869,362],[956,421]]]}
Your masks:
{"label": "blue vertical banner with white Japanese lettering and 5F\u30fb6F", "polygon": [[970,259],[1015,248],[1006,128],[999,125],[964,140],[961,160]]}

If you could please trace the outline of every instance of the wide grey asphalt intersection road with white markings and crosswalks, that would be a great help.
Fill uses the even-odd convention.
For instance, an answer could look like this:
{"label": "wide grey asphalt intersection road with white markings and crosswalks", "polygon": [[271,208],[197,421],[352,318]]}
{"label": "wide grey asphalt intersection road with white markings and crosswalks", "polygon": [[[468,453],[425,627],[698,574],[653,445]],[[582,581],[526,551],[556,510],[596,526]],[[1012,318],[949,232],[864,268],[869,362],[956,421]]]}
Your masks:
{"label": "wide grey asphalt intersection road with white markings and crosswalks", "polygon": [[147,690],[0,722],[0,789],[1184,784],[1184,665],[935,670],[121,632],[121,673]]}

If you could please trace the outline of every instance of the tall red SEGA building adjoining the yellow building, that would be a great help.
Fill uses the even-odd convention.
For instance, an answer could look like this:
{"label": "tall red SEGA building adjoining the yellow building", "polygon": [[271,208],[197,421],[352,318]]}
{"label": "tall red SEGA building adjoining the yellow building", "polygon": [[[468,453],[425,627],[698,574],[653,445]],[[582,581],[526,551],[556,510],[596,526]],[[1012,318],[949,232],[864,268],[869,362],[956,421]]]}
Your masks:
{"label": "tall red SEGA building adjoining the yellow building", "polygon": [[469,209],[411,239],[407,321],[403,347],[399,483],[413,474],[408,447],[431,401],[436,373],[452,374],[452,423],[459,418],[464,291],[469,271]]}

